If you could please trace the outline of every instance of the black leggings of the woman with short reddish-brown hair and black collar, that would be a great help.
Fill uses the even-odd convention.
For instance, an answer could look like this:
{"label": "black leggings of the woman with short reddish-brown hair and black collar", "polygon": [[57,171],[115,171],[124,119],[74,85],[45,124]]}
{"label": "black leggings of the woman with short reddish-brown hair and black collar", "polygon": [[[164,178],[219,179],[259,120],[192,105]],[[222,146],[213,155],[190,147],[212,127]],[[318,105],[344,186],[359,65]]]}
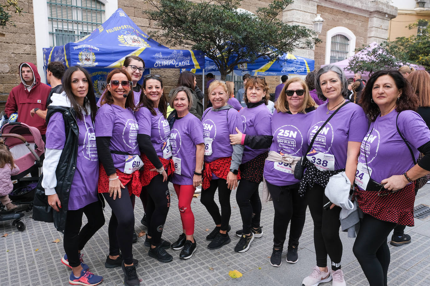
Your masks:
{"label": "black leggings of the woman with short reddish-brown hair and black collar", "polygon": [[237,187],[236,201],[242,217],[244,234],[250,234],[251,227],[255,229],[260,227],[261,200],[258,195],[259,184],[242,179]]}

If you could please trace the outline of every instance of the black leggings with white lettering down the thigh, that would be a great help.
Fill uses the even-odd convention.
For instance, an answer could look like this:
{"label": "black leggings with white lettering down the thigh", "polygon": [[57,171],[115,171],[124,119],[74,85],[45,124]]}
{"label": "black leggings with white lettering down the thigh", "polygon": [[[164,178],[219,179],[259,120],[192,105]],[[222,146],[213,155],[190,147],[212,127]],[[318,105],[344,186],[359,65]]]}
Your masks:
{"label": "black leggings with white lettering down the thigh", "polygon": [[148,202],[146,205],[146,219],[148,222],[148,235],[152,237],[152,245],[161,244],[161,234],[167,213],[170,207],[170,193],[168,181],[163,182],[163,176],[157,175],[146,186]]}

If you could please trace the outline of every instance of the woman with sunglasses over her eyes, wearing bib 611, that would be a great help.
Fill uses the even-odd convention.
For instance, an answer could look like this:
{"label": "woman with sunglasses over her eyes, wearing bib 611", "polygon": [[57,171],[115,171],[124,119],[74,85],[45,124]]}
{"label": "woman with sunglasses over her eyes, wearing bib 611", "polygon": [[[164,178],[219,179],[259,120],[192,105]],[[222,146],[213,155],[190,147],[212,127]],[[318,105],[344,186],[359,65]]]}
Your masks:
{"label": "woman with sunglasses over her eyes, wearing bib 611", "polygon": [[104,266],[121,266],[124,284],[139,285],[136,273],[138,261],[133,259],[134,233],[133,196],[141,193],[137,142],[138,123],[134,116],[132,81],[123,69],[107,75],[107,91],[95,116],[95,140],[101,162],[98,192],[112,209],[109,221],[109,256]]}

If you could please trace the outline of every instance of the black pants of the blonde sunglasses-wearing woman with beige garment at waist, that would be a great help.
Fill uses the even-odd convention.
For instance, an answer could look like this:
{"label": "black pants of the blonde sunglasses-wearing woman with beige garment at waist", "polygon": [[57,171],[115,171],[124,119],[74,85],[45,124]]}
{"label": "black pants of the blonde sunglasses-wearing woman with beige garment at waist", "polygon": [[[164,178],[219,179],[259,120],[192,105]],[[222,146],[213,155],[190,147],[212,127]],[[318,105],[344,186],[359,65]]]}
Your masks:
{"label": "black pants of the blonde sunglasses-wearing woman with beige garment at waist", "polygon": [[299,184],[291,186],[275,186],[266,181],[270,196],[275,209],[273,219],[273,247],[283,249],[288,224],[290,225],[290,236],[288,245],[298,247],[298,240],[303,231],[307,203],[298,195]]}

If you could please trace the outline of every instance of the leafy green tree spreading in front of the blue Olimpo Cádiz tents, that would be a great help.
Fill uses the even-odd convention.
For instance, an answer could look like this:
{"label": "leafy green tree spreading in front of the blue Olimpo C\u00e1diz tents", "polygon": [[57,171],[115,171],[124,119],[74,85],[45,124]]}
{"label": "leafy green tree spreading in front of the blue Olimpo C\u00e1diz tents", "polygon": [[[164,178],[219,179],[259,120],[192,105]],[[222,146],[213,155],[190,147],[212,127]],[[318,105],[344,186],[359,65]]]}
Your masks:
{"label": "leafy green tree spreading in front of the blue Olimpo C\u00e1diz tents", "polygon": [[218,66],[222,78],[234,66],[264,57],[277,59],[295,48],[312,48],[317,34],[300,25],[289,25],[279,14],[293,0],[273,0],[255,14],[238,12],[242,0],[147,0],[154,7],[144,14],[157,21],[169,44],[203,51]]}

